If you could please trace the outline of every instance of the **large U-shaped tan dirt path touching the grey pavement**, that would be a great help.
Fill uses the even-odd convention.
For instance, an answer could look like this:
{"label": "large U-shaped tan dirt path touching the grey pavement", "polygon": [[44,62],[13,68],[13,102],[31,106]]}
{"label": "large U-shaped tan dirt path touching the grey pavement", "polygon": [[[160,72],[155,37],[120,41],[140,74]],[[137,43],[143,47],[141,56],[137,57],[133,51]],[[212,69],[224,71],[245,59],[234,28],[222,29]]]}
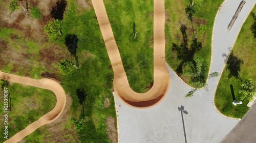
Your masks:
{"label": "large U-shaped tan dirt path touching the grey pavement", "polygon": [[102,0],[92,0],[106,49],[114,71],[114,90],[120,99],[135,107],[148,107],[159,103],[170,87],[165,66],[164,0],[154,0],[154,84],[146,93],[136,93],[129,85],[121,56]]}

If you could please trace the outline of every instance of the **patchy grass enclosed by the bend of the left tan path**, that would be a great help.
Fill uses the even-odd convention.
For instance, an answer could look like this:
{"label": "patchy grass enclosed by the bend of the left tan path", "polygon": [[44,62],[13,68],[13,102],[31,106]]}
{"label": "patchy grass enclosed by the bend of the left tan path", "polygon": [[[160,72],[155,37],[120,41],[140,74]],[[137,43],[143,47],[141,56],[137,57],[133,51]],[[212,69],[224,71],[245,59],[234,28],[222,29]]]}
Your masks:
{"label": "patchy grass enclosed by the bend of the left tan path", "polygon": [[[51,111],[56,104],[56,97],[49,90],[12,83],[9,85],[8,91],[11,95],[12,106],[11,111],[8,113],[8,138]],[[4,93],[3,89],[0,92]],[[4,101],[4,96],[1,96],[0,100]],[[4,102],[1,102],[1,107],[4,107]],[[1,118],[0,121],[4,123],[4,118]],[[4,124],[0,125],[2,134],[4,126]],[[25,140],[27,142],[42,142],[42,137],[44,137],[42,133],[44,131],[45,128],[42,127],[33,133],[37,134],[36,138],[28,137]],[[0,142],[5,140],[4,137],[0,138]]]}

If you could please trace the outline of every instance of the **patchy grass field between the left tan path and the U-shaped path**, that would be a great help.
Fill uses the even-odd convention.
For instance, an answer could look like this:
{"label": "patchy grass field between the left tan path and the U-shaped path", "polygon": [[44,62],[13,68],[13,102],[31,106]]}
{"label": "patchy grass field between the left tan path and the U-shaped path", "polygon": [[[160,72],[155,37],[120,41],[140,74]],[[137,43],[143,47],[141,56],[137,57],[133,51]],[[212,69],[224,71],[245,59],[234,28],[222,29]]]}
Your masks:
{"label": "patchy grass field between the left tan path and the U-shaped path", "polygon": [[[3,72],[36,79],[48,78],[41,74],[50,72],[55,77],[60,78],[57,79],[58,82],[62,81],[63,88],[66,93],[70,93],[73,100],[72,105],[71,103],[67,105],[71,107],[65,115],[70,116],[69,120],[66,121],[66,118],[60,119],[61,121],[59,122],[61,123],[57,125],[49,124],[37,129],[25,137],[28,142],[79,142],[77,138],[81,142],[111,142],[106,134],[106,128],[108,128],[106,119],[109,117],[116,119],[111,92],[113,71],[110,67],[111,64],[93,9],[89,8],[88,11],[85,11],[80,6],[74,0],[68,1],[67,8],[69,7],[69,9],[66,9],[61,27],[62,36],[58,40],[48,40],[48,37],[41,33],[39,33],[40,38],[36,39],[33,35],[29,35],[29,33],[16,27],[2,26],[0,23],[0,44],[3,46],[0,49],[0,69]],[[40,9],[40,11],[42,12],[42,17],[39,18],[39,21],[42,18],[46,18],[45,10]],[[29,18],[25,17],[26,19]],[[47,20],[49,19],[51,18]],[[68,34],[76,34],[78,37],[77,56],[80,69],[70,75],[61,75],[58,69],[60,60],[75,61],[75,58],[70,55],[65,46],[65,38]],[[84,123],[82,125],[78,125],[81,121],[81,114],[76,94],[77,88],[87,89],[88,95],[84,102],[86,120],[83,120]],[[17,90],[19,89],[13,89],[13,91]],[[104,101],[106,99],[110,100],[109,107],[105,107]],[[36,100],[39,99],[36,98]],[[20,106],[25,105],[20,104]],[[17,113],[17,115],[20,115],[20,113]],[[12,124],[15,126],[14,122]],[[60,124],[61,127],[59,126]],[[23,126],[26,127],[27,125],[24,124]],[[74,128],[76,129],[75,131]],[[113,125],[112,128],[115,129],[116,125]],[[60,133],[58,133],[59,130],[61,130]],[[15,131],[11,132],[15,134]],[[116,135],[116,132],[111,132],[110,134]],[[117,138],[114,137],[114,139]]]}

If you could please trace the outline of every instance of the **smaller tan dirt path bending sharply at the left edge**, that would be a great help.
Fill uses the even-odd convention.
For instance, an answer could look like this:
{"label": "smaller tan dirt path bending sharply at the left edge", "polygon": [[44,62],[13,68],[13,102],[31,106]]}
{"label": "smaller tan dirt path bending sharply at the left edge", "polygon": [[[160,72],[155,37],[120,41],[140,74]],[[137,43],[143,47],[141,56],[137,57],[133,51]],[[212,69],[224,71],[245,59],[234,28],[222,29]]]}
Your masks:
{"label": "smaller tan dirt path bending sharply at the left edge", "polygon": [[56,95],[56,105],[50,112],[46,113],[46,115],[42,116],[40,119],[30,124],[24,130],[16,133],[13,137],[6,140],[4,143],[18,142],[19,140],[23,139],[24,137],[26,137],[39,127],[41,127],[42,125],[55,121],[61,115],[66,105],[66,94],[61,85],[56,81],[51,79],[37,80],[28,77],[17,76],[14,74],[7,74],[0,71],[0,79],[3,79],[3,77],[7,77],[8,81],[11,82],[21,83],[24,85],[30,85],[32,87],[50,90]]}

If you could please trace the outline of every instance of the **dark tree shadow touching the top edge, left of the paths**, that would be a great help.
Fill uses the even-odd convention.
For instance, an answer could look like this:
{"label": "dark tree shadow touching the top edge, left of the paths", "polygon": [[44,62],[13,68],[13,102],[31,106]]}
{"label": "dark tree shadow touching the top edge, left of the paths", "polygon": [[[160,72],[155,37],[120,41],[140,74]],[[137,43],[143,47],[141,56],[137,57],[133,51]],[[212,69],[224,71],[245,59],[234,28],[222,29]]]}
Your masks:
{"label": "dark tree shadow touching the top edge, left of the paths", "polygon": [[63,19],[63,14],[66,10],[67,1],[57,1],[56,6],[52,8],[51,15],[54,19]]}

